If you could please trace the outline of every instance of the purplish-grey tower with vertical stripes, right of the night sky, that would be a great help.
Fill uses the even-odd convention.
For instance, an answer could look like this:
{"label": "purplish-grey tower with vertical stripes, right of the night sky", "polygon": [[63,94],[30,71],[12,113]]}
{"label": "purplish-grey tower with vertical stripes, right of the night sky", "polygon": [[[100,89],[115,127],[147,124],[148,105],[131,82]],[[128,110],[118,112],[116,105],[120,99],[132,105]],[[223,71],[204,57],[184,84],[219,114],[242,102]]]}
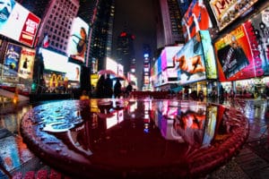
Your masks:
{"label": "purplish-grey tower with vertical stripes, right of the night sky", "polygon": [[182,15],[177,0],[160,0],[157,5],[157,48],[184,43]]}

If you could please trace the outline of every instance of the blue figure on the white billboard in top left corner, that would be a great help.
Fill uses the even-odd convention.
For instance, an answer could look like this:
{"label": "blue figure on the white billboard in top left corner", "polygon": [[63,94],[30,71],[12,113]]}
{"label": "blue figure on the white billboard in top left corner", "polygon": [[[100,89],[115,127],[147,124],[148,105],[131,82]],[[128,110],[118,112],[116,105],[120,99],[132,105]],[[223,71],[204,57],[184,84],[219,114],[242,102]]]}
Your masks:
{"label": "blue figure on the white billboard in top left corner", "polygon": [[0,30],[12,13],[14,5],[14,0],[0,0]]}

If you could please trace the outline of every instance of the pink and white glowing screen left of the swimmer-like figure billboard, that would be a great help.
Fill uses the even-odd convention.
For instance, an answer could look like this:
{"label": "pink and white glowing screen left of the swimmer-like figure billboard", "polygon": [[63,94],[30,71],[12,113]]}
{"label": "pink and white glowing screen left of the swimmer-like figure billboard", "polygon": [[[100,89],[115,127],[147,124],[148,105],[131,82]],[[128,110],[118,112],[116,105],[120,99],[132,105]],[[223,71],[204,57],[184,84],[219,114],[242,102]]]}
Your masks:
{"label": "pink and white glowing screen left of the swimmer-like figure billboard", "polygon": [[161,51],[161,70],[175,66],[173,56],[177,54],[181,47],[182,46],[164,47],[164,49]]}

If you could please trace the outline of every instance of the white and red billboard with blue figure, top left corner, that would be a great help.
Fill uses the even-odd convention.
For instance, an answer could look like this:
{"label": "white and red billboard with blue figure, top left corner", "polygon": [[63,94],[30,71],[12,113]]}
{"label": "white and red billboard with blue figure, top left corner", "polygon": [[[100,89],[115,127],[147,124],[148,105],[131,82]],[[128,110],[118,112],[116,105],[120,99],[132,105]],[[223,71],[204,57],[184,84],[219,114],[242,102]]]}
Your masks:
{"label": "white and red billboard with blue figure, top left corner", "polygon": [[0,34],[33,47],[40,19],[21,4],[11,0],[11,6],[1,4]]}

